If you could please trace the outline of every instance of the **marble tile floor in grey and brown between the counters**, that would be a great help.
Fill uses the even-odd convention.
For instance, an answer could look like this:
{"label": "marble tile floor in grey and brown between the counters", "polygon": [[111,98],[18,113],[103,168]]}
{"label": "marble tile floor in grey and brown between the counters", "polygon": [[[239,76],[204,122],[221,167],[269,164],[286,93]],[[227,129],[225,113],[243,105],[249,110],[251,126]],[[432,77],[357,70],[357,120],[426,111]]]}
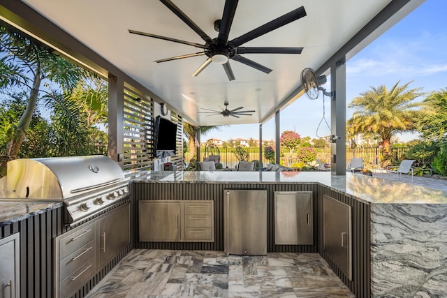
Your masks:
{"label": "marble tile floor in grey and brown between the counters", "polygon": [[354,297],[316,253],[230,255],[135,249],[89,298]]}

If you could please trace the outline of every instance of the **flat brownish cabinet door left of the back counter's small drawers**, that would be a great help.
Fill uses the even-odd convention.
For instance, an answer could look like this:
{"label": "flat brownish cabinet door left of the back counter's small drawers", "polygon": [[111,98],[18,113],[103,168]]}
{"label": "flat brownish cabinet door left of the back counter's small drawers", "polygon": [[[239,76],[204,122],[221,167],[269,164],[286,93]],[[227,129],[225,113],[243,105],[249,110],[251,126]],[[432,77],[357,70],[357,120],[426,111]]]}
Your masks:
{"label": "flat brownish cabinet door left of the back counter's small drawers", "polygon": [[140,201],[140,241],[178,241],[180,203]]}

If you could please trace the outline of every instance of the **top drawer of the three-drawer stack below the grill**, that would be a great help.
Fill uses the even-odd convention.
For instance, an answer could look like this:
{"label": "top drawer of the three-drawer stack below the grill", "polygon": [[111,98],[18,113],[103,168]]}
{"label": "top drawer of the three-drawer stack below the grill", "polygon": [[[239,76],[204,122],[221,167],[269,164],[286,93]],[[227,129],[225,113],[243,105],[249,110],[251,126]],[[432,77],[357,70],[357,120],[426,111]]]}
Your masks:
{"label": "top drawer of the three-drawer stack below the grill", "polygon": [[65,258],[67,255],[70,255],[74,251],[77,251],[85,244],[89,243],[94,239],[95,225],[91,223],[86,225],[85,227],[80,228],[79,230],[73,230],[68,232],[67,235],[60,239],[59,246],[59,258],[60,260]]}

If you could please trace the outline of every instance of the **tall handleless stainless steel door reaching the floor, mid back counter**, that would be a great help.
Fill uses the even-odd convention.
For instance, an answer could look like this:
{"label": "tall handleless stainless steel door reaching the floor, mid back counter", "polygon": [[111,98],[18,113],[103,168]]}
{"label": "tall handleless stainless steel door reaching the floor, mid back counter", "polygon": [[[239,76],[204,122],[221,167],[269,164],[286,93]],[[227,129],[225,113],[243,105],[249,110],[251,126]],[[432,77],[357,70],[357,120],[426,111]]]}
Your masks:
{"label": "tall handleless stainless steel door reaching the floor, mid back counter", "polygon": [[224,245],[233,255],[267,255],[267,191],[224,191]]}

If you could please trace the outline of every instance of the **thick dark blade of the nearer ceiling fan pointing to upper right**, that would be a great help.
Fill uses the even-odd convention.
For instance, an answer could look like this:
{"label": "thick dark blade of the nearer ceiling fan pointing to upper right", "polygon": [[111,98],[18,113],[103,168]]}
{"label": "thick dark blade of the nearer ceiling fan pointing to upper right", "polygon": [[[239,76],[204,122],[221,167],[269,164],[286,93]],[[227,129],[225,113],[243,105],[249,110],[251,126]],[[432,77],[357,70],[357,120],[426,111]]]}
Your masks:
{"label": "thick dark blade of the nearer ceiling fan pointing to upper right", "polygon": [[301,17],[306,16],[306,10],[304,6],[301,6],[295,10],[292,10],[290,13],[286,13],[285,15],[281,15],[281,17],[277,17],[276,19],[263,24],[261,27],[253,29],[242,36],[239,36],[230,41],[235,47],[239,47],[247,41],[257,38],[265,33],[273,31],[274,29],[278,29],[279,27],[283,27],[284,25],[293,22],[295,20],[300,19]]}

